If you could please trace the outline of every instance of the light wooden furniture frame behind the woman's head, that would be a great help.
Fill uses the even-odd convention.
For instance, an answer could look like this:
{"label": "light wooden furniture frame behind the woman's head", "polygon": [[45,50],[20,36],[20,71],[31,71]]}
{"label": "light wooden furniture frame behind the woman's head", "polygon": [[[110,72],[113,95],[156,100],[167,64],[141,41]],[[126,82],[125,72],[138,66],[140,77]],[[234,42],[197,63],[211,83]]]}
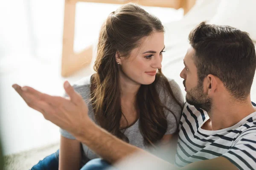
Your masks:
{"label": "light wooden furniture frame behind the woman's head", "polygon": [[92,45],[80,53],[74,53],[75,15],[77,2],[90,3],[138,3],[142,6],[159,6],[169,8],[184,8],[184,14],[195,4],[196,0],[65,0],[64,29],[61,61],[61,76],[69,77],[92,61]]}

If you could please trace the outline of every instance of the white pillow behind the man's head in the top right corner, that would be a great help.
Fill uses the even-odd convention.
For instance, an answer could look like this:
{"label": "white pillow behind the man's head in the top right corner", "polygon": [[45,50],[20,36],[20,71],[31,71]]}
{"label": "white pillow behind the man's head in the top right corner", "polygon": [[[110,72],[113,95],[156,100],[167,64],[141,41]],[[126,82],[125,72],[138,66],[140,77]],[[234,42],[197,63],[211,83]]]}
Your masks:
{"label": "white pillow behind the man's head in the top right corner", "polygon": [[221,0],[209,23],[239,28],[256,41],[256,0]]}

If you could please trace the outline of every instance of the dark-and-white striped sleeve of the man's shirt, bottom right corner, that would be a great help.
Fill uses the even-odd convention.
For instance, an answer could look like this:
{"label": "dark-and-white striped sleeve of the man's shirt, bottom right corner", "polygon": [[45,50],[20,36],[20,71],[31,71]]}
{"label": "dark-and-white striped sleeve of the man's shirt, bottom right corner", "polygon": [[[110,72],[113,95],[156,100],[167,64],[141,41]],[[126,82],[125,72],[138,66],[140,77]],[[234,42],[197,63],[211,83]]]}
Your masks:
{"label": "dark-and-white striped sleeve of the man's shirt, bottom right corner", "polygon": [[255,170],[256,167],[256,128],[242,136],[227,153],[222,156],[239,170]]}

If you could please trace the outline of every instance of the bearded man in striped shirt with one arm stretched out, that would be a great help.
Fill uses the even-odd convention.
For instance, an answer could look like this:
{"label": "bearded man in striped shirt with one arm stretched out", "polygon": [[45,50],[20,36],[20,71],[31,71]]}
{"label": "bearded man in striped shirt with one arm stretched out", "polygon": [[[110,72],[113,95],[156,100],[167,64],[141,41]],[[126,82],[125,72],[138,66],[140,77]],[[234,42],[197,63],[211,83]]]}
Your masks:
{"label": "bearded man in striped shirt with one arm stretched out", "polygon": [[[180,119],[175,164],[181,169],[255,168],[256,107],[250,101],[250,88],[256,54],[252,40],[236,28],[203,22],[191,31],[189,42],[185,68],[180,73],[187,103]],[[140,152],[150,159],[148,164],[157,162],[176,169],[90,121],[84,114],[87,105],[68,82],[64,88],[70,99],[41,94],[29,87],[13,87],[30,107],[68,130],[106,161],[115,163]]]}

